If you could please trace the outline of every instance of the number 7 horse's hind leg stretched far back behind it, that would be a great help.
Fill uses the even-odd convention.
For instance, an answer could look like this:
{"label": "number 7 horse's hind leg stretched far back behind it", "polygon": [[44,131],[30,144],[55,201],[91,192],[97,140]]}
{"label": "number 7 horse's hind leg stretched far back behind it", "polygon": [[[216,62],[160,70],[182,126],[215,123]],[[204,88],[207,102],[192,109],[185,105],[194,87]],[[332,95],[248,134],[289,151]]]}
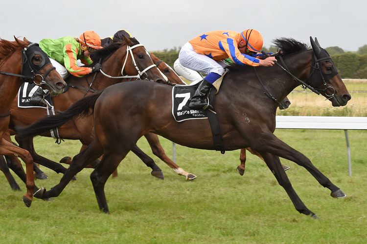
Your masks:
{"label": "number 7 horse's hind leg stretched far back behind it", "polygon": [[103,147],[98,140],[94,140],[85,150],[75,155],[70,167],[64,173],[60,183],[45,191],[42,198],[57,197],[64,190],[71,179],[79,173],[85,166],[95,161],[103,154]]}

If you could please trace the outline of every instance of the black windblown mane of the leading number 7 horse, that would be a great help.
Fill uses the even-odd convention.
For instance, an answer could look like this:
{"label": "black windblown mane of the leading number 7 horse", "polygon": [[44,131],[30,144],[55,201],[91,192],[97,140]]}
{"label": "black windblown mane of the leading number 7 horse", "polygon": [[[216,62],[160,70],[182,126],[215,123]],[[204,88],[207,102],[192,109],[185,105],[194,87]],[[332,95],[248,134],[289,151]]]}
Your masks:
{"label": "black windblown mane of the leading number 7 horse", "polygon": [[[292,53],[297,53],[300,51],[306,51],[308,49],[307,44],[296,41],[293,38],[277,38],[272,41],[277,47],[277,51],[281,55],[287,55]],[[232,64],[231,66],[226,67],[229,71],[237,71],[237,70],[245,70],[252,68],[251,66],[244,66],[240,64]]]}

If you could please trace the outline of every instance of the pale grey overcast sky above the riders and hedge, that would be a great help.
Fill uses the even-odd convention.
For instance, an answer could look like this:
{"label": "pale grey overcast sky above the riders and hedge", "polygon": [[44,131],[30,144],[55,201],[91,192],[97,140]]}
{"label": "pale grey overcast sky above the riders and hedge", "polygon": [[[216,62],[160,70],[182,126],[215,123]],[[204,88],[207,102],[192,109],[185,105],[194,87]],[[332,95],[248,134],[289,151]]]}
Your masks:
{"label": "pale grey overcast sky above the riders and hedge", "polygon": [[366,0],[2,0],[0,38],[102,39],[124,29],[148,51],[182,47],[208,31],[259,31],[264,47],[276,38],[357,51],[367,44]]}

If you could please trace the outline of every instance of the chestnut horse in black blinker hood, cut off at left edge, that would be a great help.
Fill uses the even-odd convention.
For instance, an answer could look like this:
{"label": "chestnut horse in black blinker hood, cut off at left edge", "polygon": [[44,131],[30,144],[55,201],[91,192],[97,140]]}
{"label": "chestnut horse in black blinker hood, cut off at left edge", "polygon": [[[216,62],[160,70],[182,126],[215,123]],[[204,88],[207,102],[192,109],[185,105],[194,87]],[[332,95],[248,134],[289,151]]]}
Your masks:
{"label": "chestnut horse in black blinker hood, cut off at left edge", "polygon": [[23,196],[23,203],[29,207],[35,187],[33,160],[28,151],[15,146],[10,138],[5,139],[10,107],[24,81],[48,89],[51,95],[62,93],[66,83],[37,43],[30,43],[25,38],[23,41],[14,39],[0,39],[0,155],[20,157],[24,161],[27,193]]}

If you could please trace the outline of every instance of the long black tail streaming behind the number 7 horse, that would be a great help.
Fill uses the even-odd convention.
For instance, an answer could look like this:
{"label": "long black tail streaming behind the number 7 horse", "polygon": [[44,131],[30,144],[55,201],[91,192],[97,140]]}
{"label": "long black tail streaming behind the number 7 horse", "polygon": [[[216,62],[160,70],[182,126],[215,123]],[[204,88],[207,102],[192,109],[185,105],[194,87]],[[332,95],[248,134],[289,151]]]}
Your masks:
{"label": "long black tail streaming behind the number 7 horse", "polygon": [[[92,114],[94,110],[94,105],[102,91],[96,92],[90,96],[84,97],[74,104],[72,104],[64,112],[60,112],[54,116],[47,116],[42,118],[29,126],[21,127],[16,126],[16,134],[19,140],[24,140],[27,138],[32,138],[40,135],[43,132],[49,131],[53,128],[60,127],[69,120],[83,118]],[[92,108],[92,111],[90,110]]]}

